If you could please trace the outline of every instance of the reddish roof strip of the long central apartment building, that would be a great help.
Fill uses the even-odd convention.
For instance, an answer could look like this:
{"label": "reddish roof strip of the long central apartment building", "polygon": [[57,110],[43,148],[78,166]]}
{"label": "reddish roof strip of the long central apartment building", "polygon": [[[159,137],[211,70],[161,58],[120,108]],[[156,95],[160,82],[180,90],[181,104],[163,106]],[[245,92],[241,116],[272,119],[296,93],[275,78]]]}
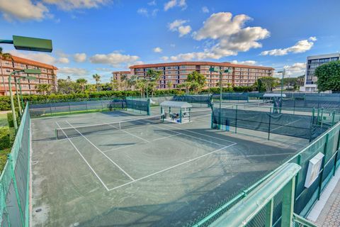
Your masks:
{"label": "reddish roof strip of the long central apartment building", "polygon": [[252,69],[263,69],[263,70],[274,70],[272,67],[263,67],[256,65],[237,65],[230,62],[168,62],[168,63],[157,63],[157,64],[146,64],[146,65],[132,65],[130,69],[135,68],[147,68],[147,67],[166,67],[166,66],[177,66],[177,65],[213,65],[213,66],[227,66],[227,67],[244,67]]}

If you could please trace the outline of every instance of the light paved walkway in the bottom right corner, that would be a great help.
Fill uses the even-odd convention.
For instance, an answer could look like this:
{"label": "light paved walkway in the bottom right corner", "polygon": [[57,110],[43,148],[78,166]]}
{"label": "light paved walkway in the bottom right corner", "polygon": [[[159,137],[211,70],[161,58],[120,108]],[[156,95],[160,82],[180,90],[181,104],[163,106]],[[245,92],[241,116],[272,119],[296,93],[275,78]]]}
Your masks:
{"label": "light paved walkway in the bottom right corner", "polygon": [[329,182],[307,219],[317,226],[340,226],[340,168]]}

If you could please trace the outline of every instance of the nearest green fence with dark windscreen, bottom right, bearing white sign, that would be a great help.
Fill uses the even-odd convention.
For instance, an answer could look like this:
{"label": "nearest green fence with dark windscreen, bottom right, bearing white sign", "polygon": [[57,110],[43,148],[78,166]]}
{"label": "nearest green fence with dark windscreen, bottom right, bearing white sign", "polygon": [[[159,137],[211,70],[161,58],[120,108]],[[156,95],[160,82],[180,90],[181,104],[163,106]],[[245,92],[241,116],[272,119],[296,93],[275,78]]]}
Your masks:
{"label": "nearest green fence with dark windscreen, bottom right, bearing white sign", "polygon": [[[295,177],[295,196],[294,196],[294,213],[299,216],[306,217],[312,209],[312,206],[319,199],[320,194],[327,186],[331,177],[335,175],[336,169],[340,166],[340,155],[339,155],[339,144],[340,144],[340,123],[336,123],[335,126],[329,128],[325,133],[320,135],[318,138],[312,141],[312,143],[302,148],[296,155],[288,158],[283,165],[280,165],[276,170],[268,173],[265,177],[261,178],[255,184],[252,184],[249,188],[244,189],[242,192],[237,194],[231,199],[228,199],[224,204],[212,207],[204,218],[196,220],[196,223],[188,223],[187,226],[208,226],[210,223],[219,218],[222,214],[232,208],[234,204],[242,201],[246,196],[249,195],[254,189],[266,179],[271,177],[276,172],[282,170],[286,163],[295,163],[300,165],[301,169],[297,172]],[[310,185],[305,187],[305,181],[307,176],[307,169],[312,157],[322,153],[324,155],[322,159],[322,166],[317,175],[317,178]],[[274,199],[273,204],[273,226],[280,226],[282,214],[280,212],[280,206],[282,206],[283,193],[278,193]],[[265,211],[259,212],[254,216],[249,226],[264,226],[266,221]],[[295,217],[295,222],[300,223],[303,218]],[[261,224],[263,223],[263,224]]]}

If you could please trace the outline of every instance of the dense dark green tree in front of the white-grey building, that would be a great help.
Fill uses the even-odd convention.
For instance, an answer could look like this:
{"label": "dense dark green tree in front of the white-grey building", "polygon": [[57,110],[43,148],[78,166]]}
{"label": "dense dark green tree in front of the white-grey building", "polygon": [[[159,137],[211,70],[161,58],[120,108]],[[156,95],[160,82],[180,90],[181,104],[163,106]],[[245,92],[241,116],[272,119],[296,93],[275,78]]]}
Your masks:
{"label": "dense dark green tree in front of the white-grey building", "polygon": [[340,92],[340,60],[320,65],[315,69],[317,89],[320,92]]}

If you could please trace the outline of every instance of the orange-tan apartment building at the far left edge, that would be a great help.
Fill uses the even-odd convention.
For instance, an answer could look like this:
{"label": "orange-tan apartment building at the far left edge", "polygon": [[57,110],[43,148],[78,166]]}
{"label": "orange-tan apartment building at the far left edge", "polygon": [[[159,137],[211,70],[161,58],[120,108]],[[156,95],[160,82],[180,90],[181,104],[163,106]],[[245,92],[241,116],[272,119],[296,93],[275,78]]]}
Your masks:
{"label": "orange-tan apartment building at the far left edge", "polygon": [[[41,71],[41,74],[32,75],[37,79],[20,79],[23,94],[38,94],[37,84],[52,84],[52,90],[57,90],[57,67],[12,55],[12,59],[3,58],[0,61],[0,95],[8,95],[10,88],[15,93],[15,77],[12,77],[11,86],[9,86],[8,75],[13,71],[23,69],[38,69]],[[15,76],[26,75],[19,73],[15,74]]]}

